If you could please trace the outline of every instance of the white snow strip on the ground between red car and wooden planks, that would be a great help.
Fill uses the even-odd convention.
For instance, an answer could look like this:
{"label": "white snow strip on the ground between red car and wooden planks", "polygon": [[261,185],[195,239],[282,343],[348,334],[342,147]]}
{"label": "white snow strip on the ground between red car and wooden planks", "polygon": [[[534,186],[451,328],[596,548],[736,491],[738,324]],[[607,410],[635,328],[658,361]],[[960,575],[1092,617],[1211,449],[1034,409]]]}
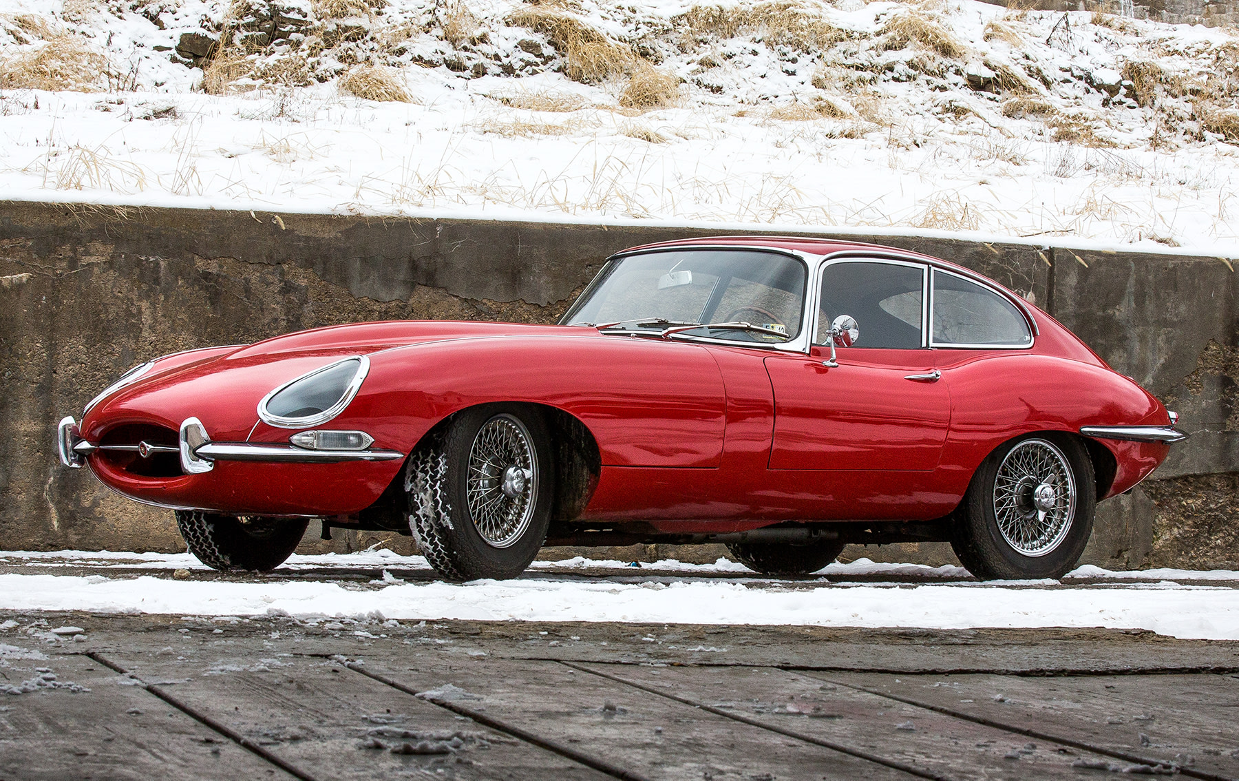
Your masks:
{"label": "white snow strip on the ground between red car and wooden planks", "polygon": [[[74,562],[93,567],[172,567],[201,569],[188,554],[109,554],[84,552],[4,553],[0,564]],[[1150,570],[1132,573],[1157,583],[1124,583],[1125,573],[1080,568],[1056,581],[900,583],[908,575],[958,578],[959,568],[876,564],[867,559],[833,564],[821,578],[788,583],[741,575],[742,567],[678,562],[643,564],[641,570],[672,576],[553,576],[564,571],[611,569],[622,562],[569,559],[543,562],[517,580],[465,584],[406,581],[389,571],[420,569],[420,557],[390,552],[294,557],[290,567],[383,568],[383,578],[361,585],[256,578],[173,580],[155,575],[0,574],[0,610],[149,612],[202,616],[291,615],[300,619],[372,617],[396,620],[621,621],[864,627],[1113,627],[1146,629],[1189,638],[1239,640],[1239,589],[1193,584],[1233,579],[1239,573]],[[636,569],[636,568],[634,568]],[[544,570],[544,571],[536,571]],[[550,571],[546,571],[550,570]],[[699,578],[695,575],[714,575]],[[885,574],[888,583],[849,583]],[[1072,579],[1103,579],[1070,585]]]}

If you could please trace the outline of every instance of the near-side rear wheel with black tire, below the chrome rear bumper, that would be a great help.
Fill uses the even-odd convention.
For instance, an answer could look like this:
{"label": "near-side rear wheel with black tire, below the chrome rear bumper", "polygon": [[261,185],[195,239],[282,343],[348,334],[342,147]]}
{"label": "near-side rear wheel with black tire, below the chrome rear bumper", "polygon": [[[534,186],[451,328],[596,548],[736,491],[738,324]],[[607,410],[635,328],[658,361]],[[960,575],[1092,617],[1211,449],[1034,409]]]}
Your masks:
{"label": "near-side rear wheel with black tire, below the chrome rear bumper", "polygon": [[[1016,459],[1026,452],[1043,459],[1046,469],[1040,482],[1035,482],[1038,480],[1035,467],[1026,470],[1030,482],[1012,480],[1020,474]],[[1074,491],[1074,502],[1058,487],[1068,476],[1058,475],[1061,466],[1066,466],[1064,472],[1069,470],[1067,485]],[[1037,498],[1036,492],[1043,485],[1054,495],[1052,505],[1049,495]],[[1044,516],[1038,501],[1049,506]],[[999,505],[1006,524],[999,521]],[[1093,534],[1095,510],[1097,479],[1084,444],[1064,434],[1030,434],[1005,443],[978,467],[952,519],[950,545],[968,571],[981,580],[1057,579],[1070,571],[1084,553]]]}

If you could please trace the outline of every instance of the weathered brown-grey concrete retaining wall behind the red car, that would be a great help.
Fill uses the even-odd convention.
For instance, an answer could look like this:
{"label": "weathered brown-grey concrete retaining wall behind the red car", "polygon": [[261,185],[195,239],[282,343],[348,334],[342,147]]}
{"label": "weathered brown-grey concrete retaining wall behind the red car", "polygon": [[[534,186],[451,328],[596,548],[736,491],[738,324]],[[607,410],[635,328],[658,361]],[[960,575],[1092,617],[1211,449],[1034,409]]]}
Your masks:
{"label": "weathered brown-grey concrete retaining wall behind the red car", "polygon": [[[183,549],[171,513],[116,497],[55,457],[56,420],[138,362],[362,320],[551,321],[612,252],[709,233],[0,202],[0,548]],[[1156,481],[1100,506],[1088,560],[1239,564],[1239,280],[1227,265],[849,238],[948,258],[1031,291],[1183,414],[1193,438]],[[940,544],[892,548],[864,555],[952,559]]]}

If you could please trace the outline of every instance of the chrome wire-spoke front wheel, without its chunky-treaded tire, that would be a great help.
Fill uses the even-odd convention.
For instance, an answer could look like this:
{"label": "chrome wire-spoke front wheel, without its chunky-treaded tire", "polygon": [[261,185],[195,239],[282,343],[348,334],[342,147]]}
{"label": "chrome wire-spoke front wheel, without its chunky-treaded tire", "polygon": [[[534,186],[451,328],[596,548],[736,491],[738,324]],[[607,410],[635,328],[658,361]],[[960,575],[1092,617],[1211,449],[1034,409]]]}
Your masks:
{"label": "chrome wire-spoke front wheel, without its chunky-treaded tire", "polygon": [[529,429],[509,414],[478,430],[468,454],[468,510],[477,533],[494,548],[520,539],[538,505],[538,457]]}

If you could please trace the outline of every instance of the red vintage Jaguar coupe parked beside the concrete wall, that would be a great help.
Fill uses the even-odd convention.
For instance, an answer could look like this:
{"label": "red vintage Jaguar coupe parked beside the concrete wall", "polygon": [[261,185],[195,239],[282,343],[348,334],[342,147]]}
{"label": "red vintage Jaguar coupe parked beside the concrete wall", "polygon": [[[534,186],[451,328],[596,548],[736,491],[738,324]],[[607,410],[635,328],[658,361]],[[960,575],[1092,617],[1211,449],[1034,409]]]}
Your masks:
{"label": "red vintage Jaguar coupe parked beside the concrete wall", "polygon": [[949,541],[978,578],[1073,568],[1098,501],[1184,434],[1067,329],[959,265],[735,237],[608,259],[559,325],[368,322],[123,374],[61,461],[176,512],[217,569],[311,518],[413,534],[445,578],[544,544],[719,542],[803,575]]}

